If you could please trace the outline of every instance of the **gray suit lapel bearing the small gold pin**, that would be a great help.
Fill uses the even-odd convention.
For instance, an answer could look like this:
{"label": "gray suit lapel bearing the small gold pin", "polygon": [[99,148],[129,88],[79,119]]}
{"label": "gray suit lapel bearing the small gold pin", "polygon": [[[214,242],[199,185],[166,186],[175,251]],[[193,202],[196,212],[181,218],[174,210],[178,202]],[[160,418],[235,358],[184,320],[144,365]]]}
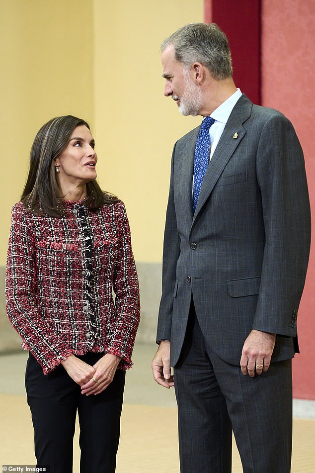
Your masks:
{"label": "gray suit lapel bearing the small gold pin", "polygon": [[251,106],[252,102],[246,95],[242,95],[232,110],[202,182],[192,224],[231,159],[236,147],[246,134],[242,123],[250,116]]}

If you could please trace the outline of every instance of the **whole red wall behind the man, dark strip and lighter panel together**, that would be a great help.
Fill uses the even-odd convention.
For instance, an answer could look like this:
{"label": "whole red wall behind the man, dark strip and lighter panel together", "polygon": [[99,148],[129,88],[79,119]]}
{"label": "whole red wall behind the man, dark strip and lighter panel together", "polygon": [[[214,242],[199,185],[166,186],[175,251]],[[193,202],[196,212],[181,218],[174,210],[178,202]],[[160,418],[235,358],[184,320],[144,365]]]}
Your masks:
{"label": "whole red wall behind the man, dark strip and lighter panel together", "polygon": [[[315,222],[315,0],[205,0],[207,23],[227,34],[236,86],[254,102],[280,110],[300,139]],[[298,224],[298,222],[297,222]],[[313,229],[314,223],[313,223]],[[293,229],[294,231],[294,229]],[[313,231],[313,235],[315,232]],[[293,395],[315,399],[315,237],[298,317],[301,354],[293,361]]]}

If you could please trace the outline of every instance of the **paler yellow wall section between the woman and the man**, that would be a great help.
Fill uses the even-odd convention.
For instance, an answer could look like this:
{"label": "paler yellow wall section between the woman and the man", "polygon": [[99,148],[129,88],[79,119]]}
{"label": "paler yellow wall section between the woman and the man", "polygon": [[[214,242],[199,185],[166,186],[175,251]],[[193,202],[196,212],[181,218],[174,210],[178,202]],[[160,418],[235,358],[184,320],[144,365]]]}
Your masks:
{"label": "paler yellow wall section between the woman and the man", "polygon": [[172,147],[200,122],[163,96],[159,46],[202,18],[203,0],[94,0],[98,173],[126,204],[136,261],[161,261]]}

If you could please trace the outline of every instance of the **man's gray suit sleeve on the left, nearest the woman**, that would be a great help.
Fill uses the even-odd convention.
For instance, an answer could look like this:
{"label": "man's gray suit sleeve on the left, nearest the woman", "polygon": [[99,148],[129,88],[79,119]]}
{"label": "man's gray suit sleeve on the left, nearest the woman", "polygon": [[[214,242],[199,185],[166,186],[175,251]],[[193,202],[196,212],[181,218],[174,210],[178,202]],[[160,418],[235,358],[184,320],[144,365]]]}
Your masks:
{"label": "man's gray suit sleeve on the left, nearest the woman", "polygon": [[170,186],[164,231],[162,297],[158,311],[157,343],[161,340],[170,340],[176,265],[180,254],[180,238],[177,229],[173,187],[175,148],[176,143],[171,160]]}

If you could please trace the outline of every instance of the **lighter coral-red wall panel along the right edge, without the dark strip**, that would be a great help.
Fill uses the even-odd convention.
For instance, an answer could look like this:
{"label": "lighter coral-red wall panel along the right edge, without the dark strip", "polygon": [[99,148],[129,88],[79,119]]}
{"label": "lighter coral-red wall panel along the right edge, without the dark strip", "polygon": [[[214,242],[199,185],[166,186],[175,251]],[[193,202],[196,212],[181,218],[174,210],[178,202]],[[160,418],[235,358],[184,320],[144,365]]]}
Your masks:
{"label": "lighter coral-red wall panel along the right edge, without the dark strip", "polygon": [[[262,105],[293,123],[301,142],[312,210],[312,245],[298,333],[301,353],[293,361],[294,397],[315,399],[315,0],[262,1]],[[297,225],[299,222],[297,222]]]}

